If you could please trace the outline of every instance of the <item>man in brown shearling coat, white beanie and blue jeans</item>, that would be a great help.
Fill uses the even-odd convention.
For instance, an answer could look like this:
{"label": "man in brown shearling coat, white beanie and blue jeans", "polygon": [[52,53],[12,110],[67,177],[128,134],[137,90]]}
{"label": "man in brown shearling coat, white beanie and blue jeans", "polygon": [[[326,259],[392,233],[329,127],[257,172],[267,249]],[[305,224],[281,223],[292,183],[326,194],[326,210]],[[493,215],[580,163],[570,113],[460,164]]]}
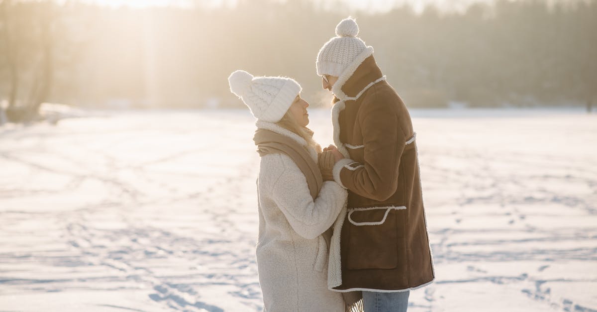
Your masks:
{"label": "man in brown shearling coat, white beanie and blue jeans", "polygon": [[[355,20],[342,20],[316,63],[335,102],[336,148],[326,150],[337,162],[323,171],[349,193],[346,213],[337,220],[341,278],[328,278],[328,286],[361,290],[366,312],[406,311],[410,290],[435,279],[416,134],[404,102],[381,74],[373,47],[356,37],[358,31]],[[333,270],[331,260],[330,276]]]}

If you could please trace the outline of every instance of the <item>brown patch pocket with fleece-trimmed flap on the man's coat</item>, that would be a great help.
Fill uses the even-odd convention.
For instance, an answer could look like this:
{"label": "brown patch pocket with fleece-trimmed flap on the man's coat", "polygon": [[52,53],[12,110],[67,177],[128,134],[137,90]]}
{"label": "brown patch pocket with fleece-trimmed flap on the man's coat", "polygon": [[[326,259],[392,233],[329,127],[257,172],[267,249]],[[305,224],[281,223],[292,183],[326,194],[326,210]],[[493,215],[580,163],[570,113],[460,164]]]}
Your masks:
{"label": "brown patch pocket with fleece-trimmed flap on the man's coat", "polygon": [[[391,269],[398,266],[399,242],[404,240],[405,206],[349,209],[346,268]],[[402,223],[399,223],[402,220]]]}

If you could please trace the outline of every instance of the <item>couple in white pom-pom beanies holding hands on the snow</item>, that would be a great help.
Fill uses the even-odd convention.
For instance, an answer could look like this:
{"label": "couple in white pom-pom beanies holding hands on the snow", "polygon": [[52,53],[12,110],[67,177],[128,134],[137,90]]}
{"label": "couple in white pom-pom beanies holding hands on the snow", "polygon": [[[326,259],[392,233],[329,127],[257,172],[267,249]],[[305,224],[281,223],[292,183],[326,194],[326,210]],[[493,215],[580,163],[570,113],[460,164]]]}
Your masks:
{"label": "couple in white pom-pom beanies holding hands on the snow", "polygon": [[406,311],[435,279],[411,118],[357,34],[344,19],[319,50],[334,94],[336,146],[323,151],[296,81],[229,77],[257,118],[264,311]]}

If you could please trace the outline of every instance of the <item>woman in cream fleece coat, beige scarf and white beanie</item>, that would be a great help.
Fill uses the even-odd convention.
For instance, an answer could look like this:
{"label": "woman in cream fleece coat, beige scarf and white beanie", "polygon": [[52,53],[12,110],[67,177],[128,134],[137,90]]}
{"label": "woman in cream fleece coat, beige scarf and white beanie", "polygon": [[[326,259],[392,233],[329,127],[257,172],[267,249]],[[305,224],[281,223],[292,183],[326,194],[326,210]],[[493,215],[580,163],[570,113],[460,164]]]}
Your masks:
{"label": "woman in cream fleece coat, beige scarf and white beanie", "polygon": [[300,85],[245,71],[233,72],[228,80],[232,93],[257,118],[256,255],[264,311],[344,311],[342,294],[327,287],[327,259],[330,227],[347,192],[331,173],[321,175],[318,161],[331,167],[334,155],[318,155]]}

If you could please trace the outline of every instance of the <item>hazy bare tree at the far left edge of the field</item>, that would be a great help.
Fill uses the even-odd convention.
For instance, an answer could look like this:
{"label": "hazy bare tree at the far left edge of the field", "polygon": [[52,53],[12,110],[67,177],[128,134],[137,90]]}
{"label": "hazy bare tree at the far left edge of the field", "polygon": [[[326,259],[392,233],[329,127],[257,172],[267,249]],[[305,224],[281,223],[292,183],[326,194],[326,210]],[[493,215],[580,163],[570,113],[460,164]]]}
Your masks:
{"label": "hazy bare tree at the far left edge of the field", "polygon": [[37,119],[53,93],[57,70],[73,65],[75,54],[80,57],[73,36],[80,29],[67,21],[72,13],[54,1],[0,0],[0,48],[7,69],[0,86],[7,90],[8,120]]}

